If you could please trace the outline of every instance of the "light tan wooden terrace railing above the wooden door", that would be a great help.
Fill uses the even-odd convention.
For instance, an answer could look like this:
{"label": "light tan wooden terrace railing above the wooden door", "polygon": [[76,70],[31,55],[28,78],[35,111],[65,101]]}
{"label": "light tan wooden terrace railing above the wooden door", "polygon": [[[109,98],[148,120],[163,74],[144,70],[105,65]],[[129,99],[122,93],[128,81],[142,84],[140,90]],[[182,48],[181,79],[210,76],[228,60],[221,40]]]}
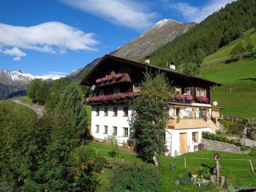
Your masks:
{"label": "light tan wooden terrace railing above the wooden door", "polygon": [[193,129],[193,128],[203,128],[210,127],[212,130],[217,131],[218,126],[211,119],[171,119],[167,124],[167,129],[181,130],[181,129]]}

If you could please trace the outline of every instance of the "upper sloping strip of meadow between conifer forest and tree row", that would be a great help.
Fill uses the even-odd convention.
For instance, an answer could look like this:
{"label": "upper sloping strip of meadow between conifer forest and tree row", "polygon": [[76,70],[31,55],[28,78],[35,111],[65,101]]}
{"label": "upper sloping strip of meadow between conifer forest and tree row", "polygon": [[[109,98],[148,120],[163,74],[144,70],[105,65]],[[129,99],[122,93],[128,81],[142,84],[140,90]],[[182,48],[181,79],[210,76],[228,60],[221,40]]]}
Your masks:
{"label": "upper sloping strip of meadow between conifer forest and tree row", "polygon": [[[256,32],[255,32],[254,28],[252,28],[252,29],[246,31],[244,33],[243,37],[240,37],[236,40],[231,41],[228,45],[217,50],[215,53],[212,53],[212,54],[206,56],[204,58],[202,66],[208,65],[211,63],[223,62],[223,61],[229,59],[230,57],[228,55],[234,46],[236,46],[237,44],[239,44],[241,42],[243,47],[244,48],[246,47],[246,39],[247,38],[250,38],[250,40],[251,40],[250,42],[254,46],[254,51],[255,51],[256,50]],[[245,54],[248,54],[248,52],[246,52]]]}

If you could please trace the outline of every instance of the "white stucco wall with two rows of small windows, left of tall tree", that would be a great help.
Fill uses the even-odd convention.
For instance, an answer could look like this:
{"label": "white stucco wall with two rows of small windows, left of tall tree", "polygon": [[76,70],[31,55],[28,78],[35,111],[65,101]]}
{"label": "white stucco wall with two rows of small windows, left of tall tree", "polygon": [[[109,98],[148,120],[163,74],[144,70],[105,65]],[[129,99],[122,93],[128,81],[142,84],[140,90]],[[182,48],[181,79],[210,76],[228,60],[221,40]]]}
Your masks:
{"label": "white stucco wall with two rows of small windows, left of tall tree", "polygon": [[[114,106],[117,107],[117,116],[113,116]],[[123,107],[128,107],[128,117],[123,116]],[[104,116],[104,108],[108,107],[108,116]],[[96,116],[96,108],[99,108],[99,116]],[[121,144],[123,140],[125,142],[129,137],[123,136],[123,127],[128,127],[128,133],[130,135],[130,117],[131,117],[131,106],[128,103],[124,104],[100,104],[92,107],[92,135],[97,139],[104,139],[113,134],[113,126],[117,126],[117,137]],[[99,133],[96,132],[96,125],[99,125]],[[108,126],[108,134],[104,134],[104,125]]]}

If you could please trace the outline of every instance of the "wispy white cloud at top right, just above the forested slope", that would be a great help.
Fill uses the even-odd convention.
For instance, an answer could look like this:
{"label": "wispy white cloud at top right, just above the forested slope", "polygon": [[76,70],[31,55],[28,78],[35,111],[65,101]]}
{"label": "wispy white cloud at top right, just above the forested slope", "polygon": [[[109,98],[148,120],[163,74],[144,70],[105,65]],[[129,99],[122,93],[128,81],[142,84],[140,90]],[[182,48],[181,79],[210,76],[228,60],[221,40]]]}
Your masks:
{"label": "wispy white cloud at top right, just above the forested slope", "polygon": [[225,7],[227,3],[233,1],[235,0],[211,0],[208,1],[207,4],[199,7],[184,2],[174,3],[165,1],[164,6],[165,8],[178,10],[188,22],[200,23],[208,15],[218,11],[221,7]]}

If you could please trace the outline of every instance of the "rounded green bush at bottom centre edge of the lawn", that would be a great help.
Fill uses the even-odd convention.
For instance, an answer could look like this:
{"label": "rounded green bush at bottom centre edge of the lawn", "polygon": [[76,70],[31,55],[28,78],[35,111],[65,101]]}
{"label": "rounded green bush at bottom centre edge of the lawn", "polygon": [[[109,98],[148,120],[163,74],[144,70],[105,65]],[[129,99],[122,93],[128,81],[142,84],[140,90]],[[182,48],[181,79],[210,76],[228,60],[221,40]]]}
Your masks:
{"label": "rounded green bush at bottom centre edge of the lawn", "polygon": [[160,175],[152,164],[132,162],[114,167],[111,191],[158,191]]}

